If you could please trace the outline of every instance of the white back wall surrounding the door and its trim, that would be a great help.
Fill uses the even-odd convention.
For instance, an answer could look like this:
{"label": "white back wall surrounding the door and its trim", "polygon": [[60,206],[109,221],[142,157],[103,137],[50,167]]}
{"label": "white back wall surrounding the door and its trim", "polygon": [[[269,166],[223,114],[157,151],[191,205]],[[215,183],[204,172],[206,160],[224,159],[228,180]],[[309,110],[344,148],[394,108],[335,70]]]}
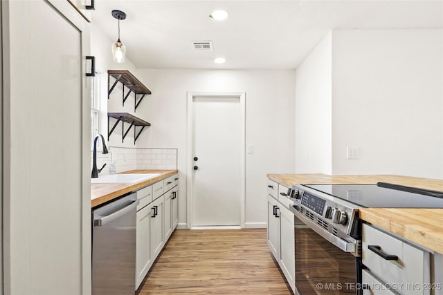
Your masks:
{"label": "white back wall surrounding the door and its trim", "polygon": [[[266,173],[294,171],[294,71],[138,69],[138,78],[152,91],[139,106],[139,114],[152,126],[137,145],[178,149],[180,196],[186,196],[185,173],[190,164],[186,151],[188,91],[246,92],[246,145],[254,146],[254,153],[246,154],[246,226],[264,227]],[[179,200],[179,218],[181,224],[186,222],[186,198]]]}

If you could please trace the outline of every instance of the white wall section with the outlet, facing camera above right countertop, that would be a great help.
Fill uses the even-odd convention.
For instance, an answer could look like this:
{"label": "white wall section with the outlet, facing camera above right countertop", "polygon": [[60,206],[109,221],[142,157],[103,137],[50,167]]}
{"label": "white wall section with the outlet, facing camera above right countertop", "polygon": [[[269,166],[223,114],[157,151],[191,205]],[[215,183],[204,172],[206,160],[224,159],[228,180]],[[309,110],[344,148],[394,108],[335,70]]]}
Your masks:
{"label": "white wall section with the outlet, facing camera above right countertop", "polygon": [[443,178],[443,31],[336,30],[332,64],[333,173]]}

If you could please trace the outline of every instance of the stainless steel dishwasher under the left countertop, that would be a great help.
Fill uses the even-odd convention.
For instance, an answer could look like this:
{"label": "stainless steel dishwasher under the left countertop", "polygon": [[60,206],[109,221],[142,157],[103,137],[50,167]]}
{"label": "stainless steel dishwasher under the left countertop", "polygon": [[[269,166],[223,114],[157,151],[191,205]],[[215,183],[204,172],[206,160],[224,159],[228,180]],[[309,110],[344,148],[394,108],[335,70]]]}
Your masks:
{"label": "stainless steel dishwasher under the left countertop", "polygon": [[137,194],[94,209],[92,294],[134,295]]}

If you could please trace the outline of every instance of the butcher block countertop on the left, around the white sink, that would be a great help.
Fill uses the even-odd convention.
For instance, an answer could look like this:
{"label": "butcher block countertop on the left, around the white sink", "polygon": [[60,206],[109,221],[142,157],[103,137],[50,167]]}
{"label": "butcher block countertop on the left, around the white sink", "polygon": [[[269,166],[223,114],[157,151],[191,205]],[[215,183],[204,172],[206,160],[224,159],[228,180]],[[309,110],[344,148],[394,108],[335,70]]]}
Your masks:
{"label": "butcher block countertop on the left, around the white sink", "polygon": [[134,183],[91,183],[91,207],[113,200],[125,193],[136,191],[163,178],[177,174],[178,170],[132,170],[123,173],[160,173],[159,176]]}

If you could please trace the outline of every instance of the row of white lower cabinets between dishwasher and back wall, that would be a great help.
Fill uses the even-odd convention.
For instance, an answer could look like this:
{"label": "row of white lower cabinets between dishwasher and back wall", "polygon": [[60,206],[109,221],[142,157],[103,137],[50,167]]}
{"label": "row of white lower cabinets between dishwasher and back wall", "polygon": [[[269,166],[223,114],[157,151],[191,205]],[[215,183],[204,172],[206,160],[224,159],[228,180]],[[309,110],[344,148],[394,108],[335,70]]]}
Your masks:
{"label": "row of white lower cabinets between dishwasher and back wall", "polygon": [[178,191],[177,175],[137,191],[136,289],[179,223]]}

